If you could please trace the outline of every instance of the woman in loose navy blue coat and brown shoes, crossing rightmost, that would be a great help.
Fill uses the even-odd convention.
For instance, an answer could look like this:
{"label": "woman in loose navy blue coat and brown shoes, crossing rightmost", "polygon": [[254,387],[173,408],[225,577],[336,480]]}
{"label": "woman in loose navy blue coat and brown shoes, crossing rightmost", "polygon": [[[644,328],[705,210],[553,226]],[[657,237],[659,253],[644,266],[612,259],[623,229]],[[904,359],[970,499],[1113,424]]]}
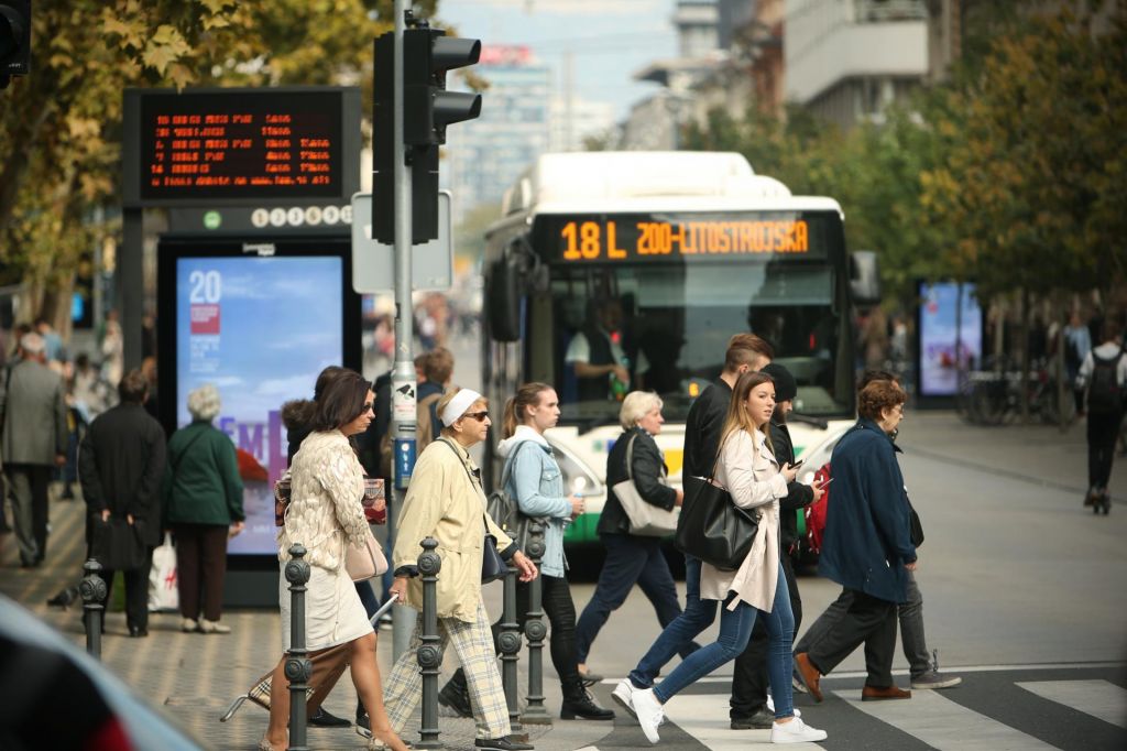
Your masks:
{"label": "woman in loose navy blue coat and brown shoes, crossing rightmost", "polygon": [[915,571],[904,477],[891,434],[904,418],[906,396],[891,381],[873,381],[858,396],[860,419],[834,448],[834,501],[818,573],[852,595],[842,618],[809,652],[795,655],[798,677],[816,701],[818,681],[864,644],[868,678],[863,701],[909,699],[893,682],[896,604],[907,599],[907,572]]}

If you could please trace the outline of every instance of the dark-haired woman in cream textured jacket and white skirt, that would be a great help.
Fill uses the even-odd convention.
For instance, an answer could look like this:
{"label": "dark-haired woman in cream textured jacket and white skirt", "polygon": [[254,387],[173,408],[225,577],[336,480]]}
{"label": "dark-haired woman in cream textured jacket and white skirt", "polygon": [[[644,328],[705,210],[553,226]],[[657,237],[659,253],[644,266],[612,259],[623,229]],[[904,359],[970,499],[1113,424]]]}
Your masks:
{"label": "dark-haired woman in cream textured jacket and white skirt", "polygon": [[[375,663],[375,633],[345,569],[346,547],[365,544],[369,530],[361,500],[364,470],[349,438],[372,421],[371,383],[356,372],[334,378],[316,403],[310,434],[294,454],[292,489],[285,525],[278,533],[278,560],[284,569],[290,546],[302,544],[311,575],[305,594],[305,646],[318,652],[343,644],[356,693],[372,724],[370,749],[402,751],[403,744],[383,709],[380,671]],[[290,592],[285,576],[278,582],[282,642],[290,648]],[[270,723],[259,743],[261,751],[285,748],[290,699],[284,660],[274,670],[270,686]]]}

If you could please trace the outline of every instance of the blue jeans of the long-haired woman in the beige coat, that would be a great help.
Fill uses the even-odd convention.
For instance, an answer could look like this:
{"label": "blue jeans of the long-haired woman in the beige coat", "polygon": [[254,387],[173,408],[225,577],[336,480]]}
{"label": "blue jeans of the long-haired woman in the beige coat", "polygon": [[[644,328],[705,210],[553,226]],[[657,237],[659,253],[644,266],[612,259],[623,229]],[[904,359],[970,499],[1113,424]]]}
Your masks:
{"label": "blue jeans of the long-haired woman in the beige coat", "polygon": [[790,648],[795,636],[795,616],[790,609],[790,591],[787,589],[782,565],[779,566],[779,581],[775,583],[775,597],[770,612],[756,610],[746,602],[738,603],[735,610],[728,610],[728,602],[734,597],[734,594],[728,597],[720,611],[720,636],[717,640],[682,661],[669,677],[654,689],[654,696],[665,704],[720,665],[735,660],[747,646],[755,619],[763,618],[771,639],[767,651],[767,680],[771,682],[771,695],[774,697],[775,717],[790,717],[795,714],[790,682]]}

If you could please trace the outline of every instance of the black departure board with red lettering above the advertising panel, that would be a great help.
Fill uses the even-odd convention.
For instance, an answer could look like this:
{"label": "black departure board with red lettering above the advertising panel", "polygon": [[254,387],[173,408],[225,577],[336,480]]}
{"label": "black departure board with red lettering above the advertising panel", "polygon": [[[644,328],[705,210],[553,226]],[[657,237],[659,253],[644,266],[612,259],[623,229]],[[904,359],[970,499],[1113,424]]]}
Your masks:
{"label": "black departure board with red lettering above the advertising panel", "polygon": [[347,200],[358,107],[340,88],[130,90],[126,203]]}

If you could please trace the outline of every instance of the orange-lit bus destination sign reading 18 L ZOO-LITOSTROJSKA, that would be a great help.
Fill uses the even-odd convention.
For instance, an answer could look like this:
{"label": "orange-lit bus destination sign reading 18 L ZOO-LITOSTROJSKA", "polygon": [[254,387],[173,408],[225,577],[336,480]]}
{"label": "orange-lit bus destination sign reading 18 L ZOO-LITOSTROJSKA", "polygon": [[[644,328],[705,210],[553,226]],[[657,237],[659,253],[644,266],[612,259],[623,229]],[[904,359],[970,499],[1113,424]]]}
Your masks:
{"label": "orange-lit bus destination sign reading 18 L ZOO-LITOSTROJSKA", "polygon": [[541,215],[538,247],[564,263],[691,260],[739,256],[828,257],[834,215],[726,214]]}

